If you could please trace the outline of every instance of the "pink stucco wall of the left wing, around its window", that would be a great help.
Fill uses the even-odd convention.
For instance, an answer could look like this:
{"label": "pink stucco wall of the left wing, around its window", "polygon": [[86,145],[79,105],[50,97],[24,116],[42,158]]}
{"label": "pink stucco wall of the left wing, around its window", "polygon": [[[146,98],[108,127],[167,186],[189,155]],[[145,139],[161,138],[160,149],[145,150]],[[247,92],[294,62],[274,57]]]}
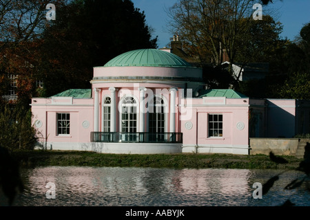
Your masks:
{"label": "pink stucco wall of the left wing, around its window", "polygon": [[[92,99],[33,98],[32,123],[37,120],[42,122],[41,127],[37,128],[37,135],[41,137],[39,141],[90,142],[94,112],[92,102]],[[56,113],[70,113],[70,135],[57,135]]]}

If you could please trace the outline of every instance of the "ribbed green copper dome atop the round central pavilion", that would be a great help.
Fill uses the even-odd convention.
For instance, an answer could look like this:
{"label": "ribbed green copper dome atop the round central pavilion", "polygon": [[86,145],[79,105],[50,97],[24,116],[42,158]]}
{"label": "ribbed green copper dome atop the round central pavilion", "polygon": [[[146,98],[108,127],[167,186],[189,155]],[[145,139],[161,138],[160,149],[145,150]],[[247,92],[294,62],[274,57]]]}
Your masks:
{"label": "ribbed green copper dome atop the round central pavilion", "polygon": [[192,67],[176,54],[156,49],[125,52],[112,58],[104,67]]}

